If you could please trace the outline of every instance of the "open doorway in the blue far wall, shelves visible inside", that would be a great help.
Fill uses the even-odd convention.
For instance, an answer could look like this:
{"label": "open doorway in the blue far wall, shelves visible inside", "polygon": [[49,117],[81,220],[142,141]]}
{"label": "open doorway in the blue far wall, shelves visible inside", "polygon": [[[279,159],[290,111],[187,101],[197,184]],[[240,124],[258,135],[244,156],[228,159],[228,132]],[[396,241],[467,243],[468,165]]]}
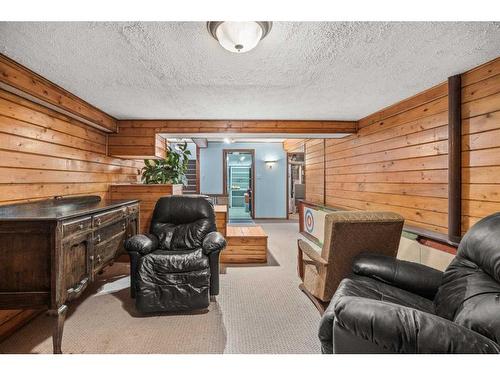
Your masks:
{"label": "open doorway in the blue far wall, shelves visible inside", "polygon": [[223,185],[230,223],[255,217],[255,150],[223,150]]}

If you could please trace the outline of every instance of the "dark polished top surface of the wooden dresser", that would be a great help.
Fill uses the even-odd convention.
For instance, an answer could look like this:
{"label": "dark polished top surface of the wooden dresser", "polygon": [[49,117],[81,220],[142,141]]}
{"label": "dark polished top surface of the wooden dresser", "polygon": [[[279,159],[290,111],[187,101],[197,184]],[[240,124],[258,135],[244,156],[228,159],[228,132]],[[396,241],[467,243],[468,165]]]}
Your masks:
{"label": "dark polished top surface of the wooden dresser", "polygon": [[106,200],[99,196],[55,198],[0,206],[2,220],[65,220],[118,208],[138,200]]}

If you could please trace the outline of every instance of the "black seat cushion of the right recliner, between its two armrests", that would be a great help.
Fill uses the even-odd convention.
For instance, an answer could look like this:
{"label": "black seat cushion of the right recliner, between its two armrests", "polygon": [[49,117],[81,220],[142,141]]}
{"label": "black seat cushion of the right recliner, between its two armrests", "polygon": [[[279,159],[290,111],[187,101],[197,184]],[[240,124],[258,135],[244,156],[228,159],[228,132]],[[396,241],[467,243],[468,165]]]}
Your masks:
{"label": "black seat cushion of the right recliner, between its two armrests", "polygon": [[365,276],[351,275],[343,279],[330,306],[335,306],[336,301],[342,297],[361,297],[392,302],[434,314],[434,305],[431,300]]}

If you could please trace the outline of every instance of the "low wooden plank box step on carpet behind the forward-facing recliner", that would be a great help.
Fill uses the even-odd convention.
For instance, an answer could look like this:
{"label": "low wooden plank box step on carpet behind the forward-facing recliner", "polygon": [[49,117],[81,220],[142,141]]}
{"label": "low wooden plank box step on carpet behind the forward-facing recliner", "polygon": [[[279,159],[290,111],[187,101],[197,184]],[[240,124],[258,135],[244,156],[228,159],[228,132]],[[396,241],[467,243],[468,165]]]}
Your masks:
{"label": "low wooden plank box step on carpet behind the forward-facing recliner", "polygon": [[267,234],[260,226],[226,228],[227,247],[220,256],[221,263],[266,263]]}

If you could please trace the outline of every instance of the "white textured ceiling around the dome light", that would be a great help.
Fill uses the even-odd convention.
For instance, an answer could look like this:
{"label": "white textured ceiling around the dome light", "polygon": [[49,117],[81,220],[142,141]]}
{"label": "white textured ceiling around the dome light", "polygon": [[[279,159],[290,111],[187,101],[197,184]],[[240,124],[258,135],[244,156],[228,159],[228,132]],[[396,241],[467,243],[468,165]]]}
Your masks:
{"label": "white textured ceiling around the dome light", "polygon": [[275,22],[241,55],[202,22],[0,23],[1,53],[120,119],[356,120],[499,51],[498,22]]}

